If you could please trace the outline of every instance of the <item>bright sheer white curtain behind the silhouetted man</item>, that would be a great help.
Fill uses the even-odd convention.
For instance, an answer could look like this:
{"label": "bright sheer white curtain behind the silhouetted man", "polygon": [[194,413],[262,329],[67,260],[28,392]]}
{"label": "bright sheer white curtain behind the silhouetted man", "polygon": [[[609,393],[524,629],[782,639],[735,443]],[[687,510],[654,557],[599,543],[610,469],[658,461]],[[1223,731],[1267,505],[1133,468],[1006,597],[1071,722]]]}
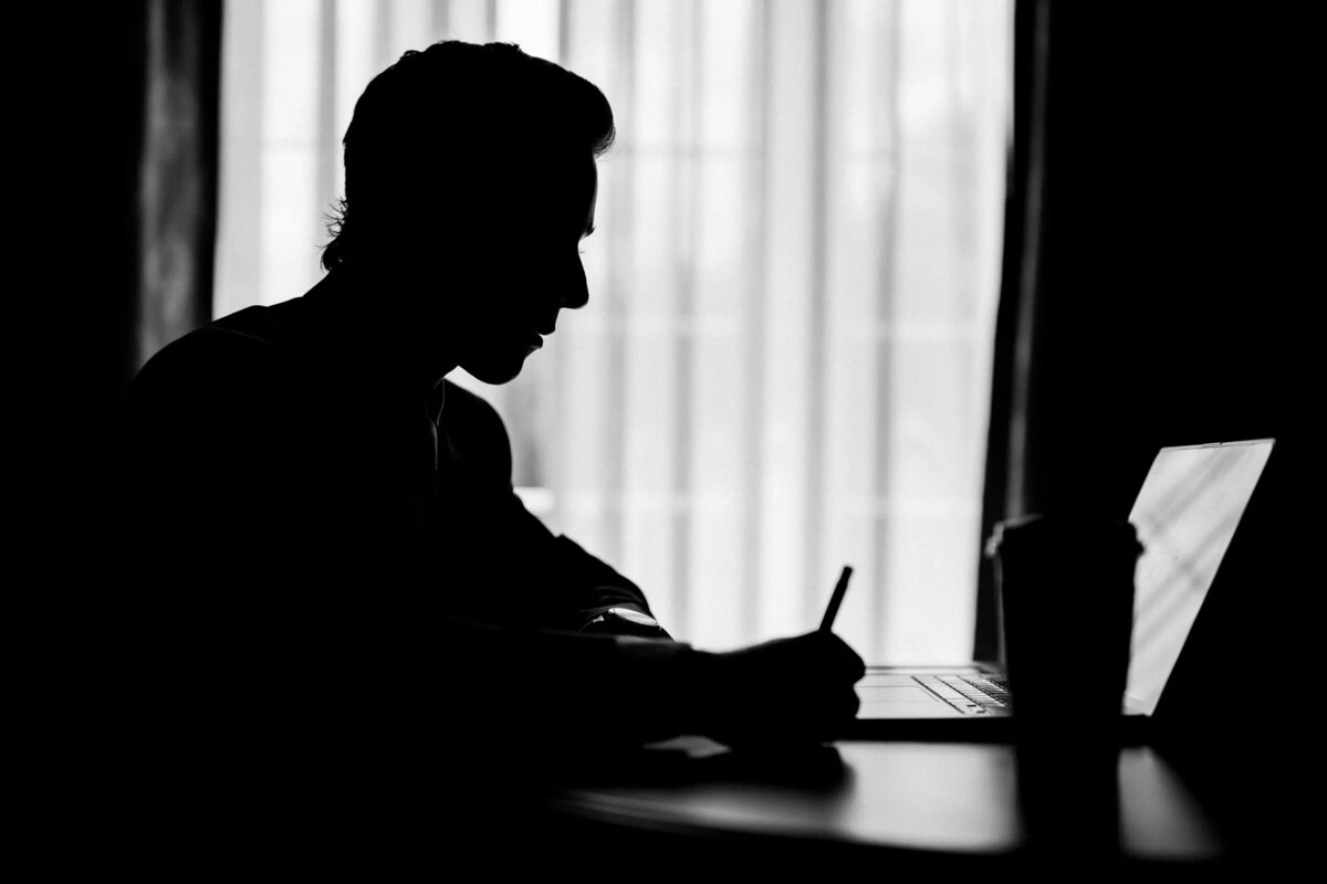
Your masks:
{"label": "bright sheer white curtain behind the silhouetted man", "polygon": [[218,314],[318,277],[368,80],[439,38],[597,83],[591,304],[506,387],[555,530],[718,648],[819,622],[971,652],[1011,90],[1009,3],[232,0]]}

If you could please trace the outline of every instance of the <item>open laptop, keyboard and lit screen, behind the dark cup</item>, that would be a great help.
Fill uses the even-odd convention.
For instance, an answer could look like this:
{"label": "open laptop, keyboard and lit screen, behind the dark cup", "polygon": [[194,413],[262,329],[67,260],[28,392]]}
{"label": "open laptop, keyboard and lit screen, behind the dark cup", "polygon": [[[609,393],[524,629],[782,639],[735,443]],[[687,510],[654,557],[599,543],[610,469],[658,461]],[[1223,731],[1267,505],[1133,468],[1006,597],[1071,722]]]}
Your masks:
{"label": "open laptop, keyboard and lit screen, behind the dark cup", "polygon": [[[1157,452],[1129,512],[1144,553],[1135,571],[1125,737],[1141,738],[1253,498],[1275,440]],[[1068,664],[1072,665],[1072,664]],[[844,738],[1007,740],[1009,681],[998,663],[868,667]]]}

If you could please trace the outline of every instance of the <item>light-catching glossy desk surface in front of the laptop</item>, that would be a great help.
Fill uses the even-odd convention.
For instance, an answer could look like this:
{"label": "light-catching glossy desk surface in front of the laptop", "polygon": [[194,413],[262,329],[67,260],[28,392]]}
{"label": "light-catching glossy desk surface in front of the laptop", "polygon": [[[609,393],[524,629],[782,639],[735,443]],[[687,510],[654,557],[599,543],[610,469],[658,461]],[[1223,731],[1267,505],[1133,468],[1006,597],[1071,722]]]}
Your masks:
{"label": "light-catching glossy desk surface in front of the laptop", "polygon": [[[1007,745],[840,742],[841,775],[819,783],[751,777],[597,785],[553,798],[560,814],[654,844],[760,838],[917,857],[1016,857],[1024,846],[1014,755]],[[1216,827],[1164,759],[1148,747],[1120,757],[1120,843],[1125,860],[1206,865]]]}

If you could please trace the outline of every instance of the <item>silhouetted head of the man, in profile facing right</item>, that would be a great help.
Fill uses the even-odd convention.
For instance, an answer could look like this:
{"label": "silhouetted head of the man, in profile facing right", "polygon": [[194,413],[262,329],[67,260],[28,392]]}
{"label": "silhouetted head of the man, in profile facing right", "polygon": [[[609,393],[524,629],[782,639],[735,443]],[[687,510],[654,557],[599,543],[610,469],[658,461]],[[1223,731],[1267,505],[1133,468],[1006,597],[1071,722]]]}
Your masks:
{"label": "silhouetted head of the man, in profile facing right", "polygon": [[356,103],[322,264],[382,284],[413,358],[510,380],[588,298],[579,244],[613,135],[598,89],[514,45],[407,52]]}

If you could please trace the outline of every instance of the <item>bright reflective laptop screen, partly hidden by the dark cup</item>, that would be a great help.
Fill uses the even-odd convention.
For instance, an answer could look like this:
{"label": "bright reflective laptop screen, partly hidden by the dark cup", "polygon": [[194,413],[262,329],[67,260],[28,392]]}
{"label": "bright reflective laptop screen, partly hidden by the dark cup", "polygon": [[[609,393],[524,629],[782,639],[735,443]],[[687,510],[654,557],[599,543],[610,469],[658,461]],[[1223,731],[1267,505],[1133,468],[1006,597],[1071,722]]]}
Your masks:
{"label": "bright reflective laptop screen, partly hidden by the dark cup", "polygon": [[1162,448],[1129,513],[1143,541],[1124,708],[1152,714],[1234,538],[1271,439]]}

